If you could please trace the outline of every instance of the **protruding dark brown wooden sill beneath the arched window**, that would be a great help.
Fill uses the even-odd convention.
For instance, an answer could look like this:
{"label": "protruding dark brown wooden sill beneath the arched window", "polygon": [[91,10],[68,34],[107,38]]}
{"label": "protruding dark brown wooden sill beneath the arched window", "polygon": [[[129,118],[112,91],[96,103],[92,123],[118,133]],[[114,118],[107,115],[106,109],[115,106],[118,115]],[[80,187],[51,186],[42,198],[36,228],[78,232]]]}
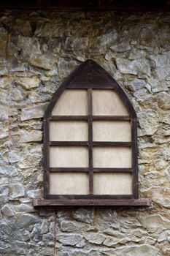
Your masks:
{"label": "protruding dark brown wooden sill beneath the arched window", "polygon": [[69,199],[69,200],[55,200],[55,199],[36,199],[34,206],[150,206],[148,199]]}

